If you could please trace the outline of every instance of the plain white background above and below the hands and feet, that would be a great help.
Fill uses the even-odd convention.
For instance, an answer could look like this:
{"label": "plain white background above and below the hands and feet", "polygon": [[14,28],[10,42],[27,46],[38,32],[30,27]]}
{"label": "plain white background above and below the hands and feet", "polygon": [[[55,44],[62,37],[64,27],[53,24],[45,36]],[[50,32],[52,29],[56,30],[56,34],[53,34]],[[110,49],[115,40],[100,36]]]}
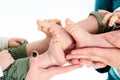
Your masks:
{"label": "plain white background above and below the hands and feet", "polygon": [[[36,20],[70,18],[79,21],[94,10],[94,0],[0,0],[0,36],[21,37],[29,42],[45,37]],[[82,67],[51,80],[105,80],[92,68]]]}

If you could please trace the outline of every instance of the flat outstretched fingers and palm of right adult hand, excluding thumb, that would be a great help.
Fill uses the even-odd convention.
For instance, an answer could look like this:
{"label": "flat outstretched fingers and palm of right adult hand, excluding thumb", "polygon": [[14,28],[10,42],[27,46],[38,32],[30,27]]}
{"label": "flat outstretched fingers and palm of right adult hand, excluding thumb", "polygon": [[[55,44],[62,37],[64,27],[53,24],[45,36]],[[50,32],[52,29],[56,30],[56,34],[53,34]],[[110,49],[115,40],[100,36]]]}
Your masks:
{"label": "flat outstretched fingers and palm of right adult hand, excluding thumb", "polygon": [[119,68],[120,67],[120,50],[104,48],[85,48],[74,50],[74,53],[67,55],[67,59],[88,59],[90,61],[99,61],[104,64]]}

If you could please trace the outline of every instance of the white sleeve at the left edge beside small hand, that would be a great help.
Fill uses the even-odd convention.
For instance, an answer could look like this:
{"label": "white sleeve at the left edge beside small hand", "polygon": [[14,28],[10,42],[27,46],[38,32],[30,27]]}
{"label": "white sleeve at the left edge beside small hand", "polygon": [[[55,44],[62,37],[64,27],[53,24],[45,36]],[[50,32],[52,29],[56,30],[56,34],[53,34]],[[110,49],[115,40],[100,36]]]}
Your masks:
{"label": "white sleeve at the left edge beside small hand", "polygon": [[0,36],[0,51],[8,48],[8,41],[9,41],[9,38]]}

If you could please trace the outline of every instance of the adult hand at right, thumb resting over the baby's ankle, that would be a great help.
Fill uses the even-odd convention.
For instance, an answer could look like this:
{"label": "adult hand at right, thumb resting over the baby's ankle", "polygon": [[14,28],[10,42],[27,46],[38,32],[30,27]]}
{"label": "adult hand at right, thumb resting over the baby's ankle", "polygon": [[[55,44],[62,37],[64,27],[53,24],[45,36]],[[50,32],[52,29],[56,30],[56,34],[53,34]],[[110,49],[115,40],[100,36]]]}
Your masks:
{"label": "adult hand at right, thumb resting over the baby's ankle", "polygon": [[[108,33],[105,35],[105,38],[117,48],[76,49],[67,56],[67,59],[85,59],[92,62],[101,62],[114,68],[120,68],[120,37]],[[93,66],[96,67],[96,64]]]}

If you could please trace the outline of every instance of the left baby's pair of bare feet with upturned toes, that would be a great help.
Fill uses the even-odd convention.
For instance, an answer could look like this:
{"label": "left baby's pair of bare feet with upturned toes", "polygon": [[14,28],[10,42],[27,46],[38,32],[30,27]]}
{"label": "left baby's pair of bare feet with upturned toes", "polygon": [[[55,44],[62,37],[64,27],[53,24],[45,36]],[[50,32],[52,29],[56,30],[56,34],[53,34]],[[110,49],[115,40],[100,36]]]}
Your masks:
{"label": "left baby's pair of bare feet with upturned toes", "polygon": [[52,65],[63,65],[66,63],[65,50],[72,44],[73,39],[60,25],[59,20],[37,21],[38,29],[46,33],[47,38],[51,38],[48,50],[40,55],[45,61],[40,60],[40,66],[45,68]]}

